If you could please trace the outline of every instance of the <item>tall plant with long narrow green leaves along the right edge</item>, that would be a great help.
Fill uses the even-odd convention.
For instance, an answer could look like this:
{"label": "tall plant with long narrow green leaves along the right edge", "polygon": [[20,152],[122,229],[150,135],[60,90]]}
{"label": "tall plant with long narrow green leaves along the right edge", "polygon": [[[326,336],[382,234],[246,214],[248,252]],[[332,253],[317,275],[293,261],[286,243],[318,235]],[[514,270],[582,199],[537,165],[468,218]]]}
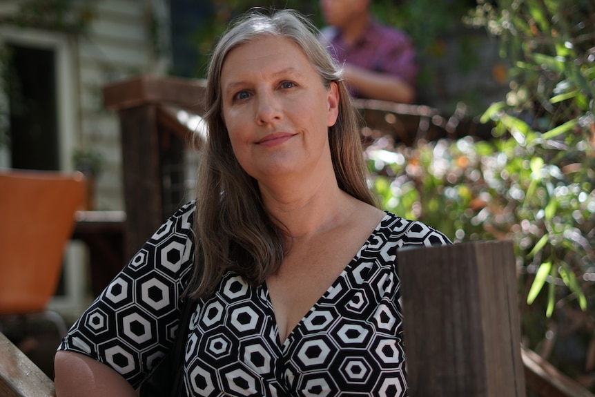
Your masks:
{"label": "tall plant with long narrow green leaves along the right edge", "polygon": [[[549,264],[586,309],[588,287],[576,276],[592,271],[595,260],[595,4],[501,0],[496,8],[480,3],[475,16],[501,37],[503,52],[515,62],[505,106],[486,115],[500,133],[513,135],[535,164],[521,209],[533,215],[528,219],[543,237],[528,257]],[[540,281],[536,278],[534,291]],[[556,289],[548,295],[554,301]],[[548,304],[548,316],[552,309]]]}

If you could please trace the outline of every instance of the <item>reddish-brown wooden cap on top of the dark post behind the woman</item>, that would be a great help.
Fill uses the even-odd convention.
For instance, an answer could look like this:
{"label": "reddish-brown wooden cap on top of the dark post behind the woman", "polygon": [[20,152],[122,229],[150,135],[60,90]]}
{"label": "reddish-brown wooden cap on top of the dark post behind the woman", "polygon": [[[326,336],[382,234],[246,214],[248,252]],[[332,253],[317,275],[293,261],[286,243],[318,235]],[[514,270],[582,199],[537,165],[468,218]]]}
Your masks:
{"label": "reddish-brown wooden cap on top of the dark post behind the woman", "polygon": [[104,106],[120,110],[142,104],[170,104],[203,115],[204,89],[202,80],[141,75],[105,86]]}

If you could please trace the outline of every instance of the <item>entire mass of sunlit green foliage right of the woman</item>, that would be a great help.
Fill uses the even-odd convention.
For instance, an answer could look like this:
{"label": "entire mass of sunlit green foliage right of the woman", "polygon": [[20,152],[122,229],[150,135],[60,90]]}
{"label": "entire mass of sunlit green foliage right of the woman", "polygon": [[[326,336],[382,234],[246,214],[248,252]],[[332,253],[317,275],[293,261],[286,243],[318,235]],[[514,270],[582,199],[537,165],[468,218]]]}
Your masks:
{"label": "entire mass of sunlit green foliage right of the woman", "polygon": [[[385,209],[456,241],[514,241],[529,347],[551,343],[570,316],[584,319],[573,332],[592,339],[595,3],[480,0],[467,21],[498,37],[512,61],[510,92],[482,116],[497,139],[379,140],[366,152],[373,185]],[[586,355],[586,342],[578,351]]]}

